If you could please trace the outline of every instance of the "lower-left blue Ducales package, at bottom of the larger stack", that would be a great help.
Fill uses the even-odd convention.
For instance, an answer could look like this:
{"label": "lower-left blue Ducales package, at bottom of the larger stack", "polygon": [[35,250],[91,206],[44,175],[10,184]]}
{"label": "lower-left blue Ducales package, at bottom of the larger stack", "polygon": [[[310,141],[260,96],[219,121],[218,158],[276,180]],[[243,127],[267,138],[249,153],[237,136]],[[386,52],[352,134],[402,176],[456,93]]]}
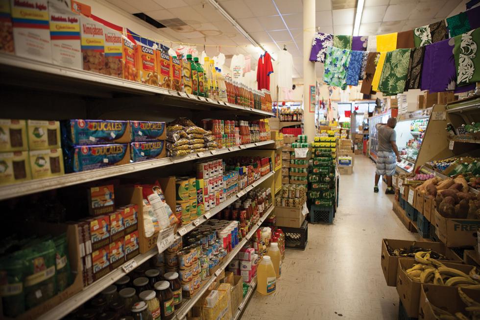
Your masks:
{"label": "lower-left blue Ducales package, at bottom of the larger stack", "polygon": [[65,172],[81,172],[130,163],[128,144],[64,148]]}

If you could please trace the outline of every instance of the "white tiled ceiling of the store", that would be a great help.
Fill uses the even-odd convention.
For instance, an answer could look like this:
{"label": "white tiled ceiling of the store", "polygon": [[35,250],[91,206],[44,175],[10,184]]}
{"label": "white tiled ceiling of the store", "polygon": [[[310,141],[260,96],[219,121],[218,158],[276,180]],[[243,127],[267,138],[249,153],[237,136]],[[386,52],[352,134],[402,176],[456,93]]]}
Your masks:
{"label": "white tiled ceiling of the store", "polygon": [[[107,0],[129,13],[144,12],[156,20],[179,18],[187,25],[162,28],[173,41],[220,46],[207,47],[227,56],[252,55],[253,69],[259,52],[207,0]],[[462,0],[365,0],[360,35],[409,30],[445,19]],[[316,0],[315,23],[320,31],[352,34],[356,0]],[[293,76],[303,76],[302,0],[218,0],[223,9],[269,52],[287,47],[293,56]],[[310,41],[309,41],[310,42]],[[242,46],[238,48],[228,46]],[[197,48],[200,52],[202,46]],[[273,54],[273,57],[275,55]],[[317,74],[322,66],[317,64]]]}

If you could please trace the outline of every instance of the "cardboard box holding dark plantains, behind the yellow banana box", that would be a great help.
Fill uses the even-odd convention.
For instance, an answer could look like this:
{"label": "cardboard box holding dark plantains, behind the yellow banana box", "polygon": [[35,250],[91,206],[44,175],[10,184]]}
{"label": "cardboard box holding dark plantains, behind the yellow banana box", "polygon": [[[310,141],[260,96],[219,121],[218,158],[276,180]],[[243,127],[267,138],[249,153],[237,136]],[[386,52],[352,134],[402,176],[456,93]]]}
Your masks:
{"label": "cardboard box holding dark plantains, behind the yellow banana box", "polygon": [[[409,241],[409,240],[395,240],[395,239],[382,239],[382,259],[380,263],[382,265],[382,271],[384,271],[384,277],[387,286],[395,287],[397,285],[397,268],[398,268],[398,259],[401,257],[393,256],[388,253],[387,245],[395,250],[401,248],[408,248],[410,246],[418,246],[424,249],[430,249],[436,251],[440,254],[445,255],[452,263],[463,263],[462,259],[450,248],[445,246],[440,242],[421,242],[421,241]],[[404,258],[404,257],[402,257]],[[404,258],[411,259],[414,258]],[[440,260],[445,261],[445,260]]]}

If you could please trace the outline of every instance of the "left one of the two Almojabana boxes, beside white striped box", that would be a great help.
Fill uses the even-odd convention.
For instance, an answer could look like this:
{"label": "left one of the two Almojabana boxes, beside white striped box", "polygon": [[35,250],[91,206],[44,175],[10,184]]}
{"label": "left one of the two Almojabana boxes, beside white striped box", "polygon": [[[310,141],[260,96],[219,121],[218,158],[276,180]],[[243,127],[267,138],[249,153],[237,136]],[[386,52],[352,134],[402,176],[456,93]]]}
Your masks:
{"label": "left one of the two Almojabana boxes, beside white striped box", "polygon": [[83,70],[105,73],[103,25],[80,16],[80,36],[83,56]]}

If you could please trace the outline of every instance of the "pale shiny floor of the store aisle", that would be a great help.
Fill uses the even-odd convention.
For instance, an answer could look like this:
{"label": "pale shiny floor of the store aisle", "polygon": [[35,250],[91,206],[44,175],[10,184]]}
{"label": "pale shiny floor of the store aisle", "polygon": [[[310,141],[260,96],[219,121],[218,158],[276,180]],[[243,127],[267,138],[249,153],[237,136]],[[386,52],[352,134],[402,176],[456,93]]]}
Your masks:
{"label": "pale shiny floor of the store aisle", "polygon": [[255,293],[243,320],[393,320],[398,294],[380,266],[381,239],[419,239],[392,211],[393,195],[373,193],[375,164],[355,157],[340,177],[334,224],[309,224],[305,251],[288,249],[273,295]]}

